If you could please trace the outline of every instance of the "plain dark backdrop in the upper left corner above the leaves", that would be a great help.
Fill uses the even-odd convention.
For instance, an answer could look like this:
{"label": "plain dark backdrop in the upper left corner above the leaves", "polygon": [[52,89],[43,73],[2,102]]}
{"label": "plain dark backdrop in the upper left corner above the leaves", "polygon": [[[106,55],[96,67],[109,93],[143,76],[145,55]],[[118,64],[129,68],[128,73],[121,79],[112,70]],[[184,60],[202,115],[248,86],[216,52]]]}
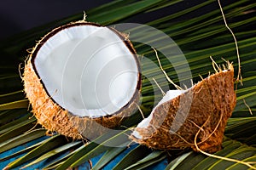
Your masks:
{"label": "plain dark backdrop in the upper left corner above the leaves", "polygon": [[0,39],[50,21],[95,8],[111,0],[8,0],[0,3]]}

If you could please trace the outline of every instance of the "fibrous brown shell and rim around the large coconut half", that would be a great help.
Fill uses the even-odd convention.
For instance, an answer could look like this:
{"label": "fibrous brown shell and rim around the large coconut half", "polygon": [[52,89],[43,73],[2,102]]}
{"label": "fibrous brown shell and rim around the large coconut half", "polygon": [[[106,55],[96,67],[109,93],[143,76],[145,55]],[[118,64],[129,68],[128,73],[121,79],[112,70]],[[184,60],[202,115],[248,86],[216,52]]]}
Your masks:
{"label": "fibrous brown shell and rim around the large coconut half", "polygon": [[[60,26],[55,28],[53,31],[50,31],[33,48],[32,53],[26,60],[23,75],[26,97],[29,99],[30,105],[32,105],[32,113],[38,119],[38,123],[51,132],[61,133],[73,139],[95,139],[102,133],[107,133],[108,130],[110,130],[109,128],[119,126],[122,120],[125,117],[130,116],[132,111],[137,108],[137,103],[140,97],[139,93],[142,87],[141,74],[139,73],[137,92],[133,95],[131,101],[127,103],[127,105],[125,105],[123,108],[120,108],[119,111],[113,113],[111,116],[102,116],[96,118],[90,118],[87,116],[74,116],[72,113],[63,109],[61,105],[55,103],[55,101],[49,96],[48,92],[44,88],[44,82],[42,82],[40,79],[38,72],[35,69],[35,65],[33,64],[34,59],[44,42],[46,42],[49,37],[55,35],[55,33],[72,26],[86,25],[100,26],[95,23],[89,23],[83,20],[73,22],[65,26]],[[113,28],[109,29],[112,29],[125,42],[126,46],[130,49],[131,54],[134,54],[138,69],[140,69],[136,51],[125,34],[122,34]]]}

